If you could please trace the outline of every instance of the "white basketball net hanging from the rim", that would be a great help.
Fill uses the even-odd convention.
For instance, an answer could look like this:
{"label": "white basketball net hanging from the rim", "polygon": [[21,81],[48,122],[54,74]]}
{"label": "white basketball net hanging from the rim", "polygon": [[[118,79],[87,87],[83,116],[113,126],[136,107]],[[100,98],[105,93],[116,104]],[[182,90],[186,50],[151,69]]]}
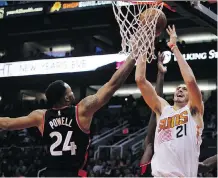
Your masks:
{"label": "white basketball net hanging from the rim", "polygon": [[[150,63],[156,58],[154,54],[156,24],[162,12],[163,3],[149,2],[113,1],[112,6],[122,37],[122,51],[120,53],[131,54],[131,57],[136,60],[143,57],[144,60]],[[142,23],[140,14],[148,8],[159,10],[155,15],[153,14],[153,17],[151,17],[150,13],[147,13]]]}

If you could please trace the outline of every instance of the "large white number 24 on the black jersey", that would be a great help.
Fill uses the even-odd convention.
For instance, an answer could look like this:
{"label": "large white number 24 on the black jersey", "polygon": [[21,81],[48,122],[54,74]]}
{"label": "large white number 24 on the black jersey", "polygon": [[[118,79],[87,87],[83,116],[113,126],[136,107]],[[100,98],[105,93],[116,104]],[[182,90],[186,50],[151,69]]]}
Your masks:
{"label": "large white number 24 on the black jersey", "polygon": [[55,148],[57,148],[63,141],[63,137],[60,132],[51,132],[50,137],[56,137],[57,140],[51,145],[50,147],[50,153],[52,156],[61,156],[63,155],[63,151],[71,151],[71,155],[76,155],[76,149],[77,146],[75,145],[75,142],[70,142],[72,137],[73,131],[68,131],[67,136],[64,140],[63,148],[60,151],[55,151]]}

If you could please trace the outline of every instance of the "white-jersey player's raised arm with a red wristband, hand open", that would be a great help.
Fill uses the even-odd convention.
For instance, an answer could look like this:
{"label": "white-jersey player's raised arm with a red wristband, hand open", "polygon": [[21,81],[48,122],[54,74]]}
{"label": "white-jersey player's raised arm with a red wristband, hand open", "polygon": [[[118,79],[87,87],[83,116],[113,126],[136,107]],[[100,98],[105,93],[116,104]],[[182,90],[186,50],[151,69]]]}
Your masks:
{"label": "white-jersey player's raised arm with a red wristband, hand open", "polygon": [[188,89],[190,109],[193,111],[193,113],[199,113],[203,115],[204,107],[202,102],[201,91],[197,85],[192,69],[182,56],[178,47],[176,46],[177,35],[175,26],[168,26],[167,33],[170,36],[170,42],[168,43],[168,46],[171,48],[171,51],[177,58],[183,80]]}

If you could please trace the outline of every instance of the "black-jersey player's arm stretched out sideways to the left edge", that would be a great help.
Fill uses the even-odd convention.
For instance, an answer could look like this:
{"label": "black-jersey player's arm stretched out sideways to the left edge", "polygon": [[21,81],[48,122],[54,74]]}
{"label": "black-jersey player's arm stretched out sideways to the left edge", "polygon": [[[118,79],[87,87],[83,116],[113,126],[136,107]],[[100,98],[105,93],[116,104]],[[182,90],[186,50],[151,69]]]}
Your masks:
{"label": "black-jersey player's arm stretched out sideways to the left edge", "polygon": [[43,111],[35,110],[28,116],[18,118],[0,117],[0,128],[4,130],[20,130],[30,127],[39,128],[43,120],[43,114]]}

